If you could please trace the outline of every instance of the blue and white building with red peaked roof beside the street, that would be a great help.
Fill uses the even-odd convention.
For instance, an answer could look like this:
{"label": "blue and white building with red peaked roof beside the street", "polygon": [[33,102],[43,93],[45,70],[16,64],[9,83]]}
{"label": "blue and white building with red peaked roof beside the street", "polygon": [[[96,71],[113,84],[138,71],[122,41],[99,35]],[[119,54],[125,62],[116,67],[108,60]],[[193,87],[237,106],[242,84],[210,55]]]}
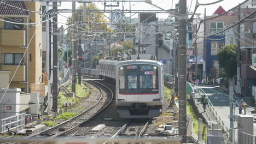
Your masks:
{"label": "blue and white building with red peaked roof beside the street", "polygon": [[[225,13],[225,10],[220,6],[212,16],[206,16],[206,31],[204,32],[203,18],[193,20],[193,43],[195,46],[194,55],[196,57],[196,76],[200,80],[210,80],[213,74],[219,69],[217,61],[217,53],[222,49],[225,42],[224,33],[219,33],[206,38],[199,38],[204,35],[214,34],[222,31],[224,26],[230,25],[231,22],[237,21],[237,16],[225,14],[215,19],[212,17]],[[207,20],[210,19],[210,20]]]}

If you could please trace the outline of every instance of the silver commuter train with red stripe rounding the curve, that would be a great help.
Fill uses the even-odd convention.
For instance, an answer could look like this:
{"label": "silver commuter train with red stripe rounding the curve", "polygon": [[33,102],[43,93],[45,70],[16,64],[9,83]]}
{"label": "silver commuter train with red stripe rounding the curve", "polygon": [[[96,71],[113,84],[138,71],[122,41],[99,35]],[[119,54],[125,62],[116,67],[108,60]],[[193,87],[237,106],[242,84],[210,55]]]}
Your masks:
{"label": "silver commuter train with red stripe rounding the curve", "polygon": [[164,77],[162,63],[155,56],[104,58],[100,77],[115,82],[117,112],[122,118],[158,117],[162,109]]}

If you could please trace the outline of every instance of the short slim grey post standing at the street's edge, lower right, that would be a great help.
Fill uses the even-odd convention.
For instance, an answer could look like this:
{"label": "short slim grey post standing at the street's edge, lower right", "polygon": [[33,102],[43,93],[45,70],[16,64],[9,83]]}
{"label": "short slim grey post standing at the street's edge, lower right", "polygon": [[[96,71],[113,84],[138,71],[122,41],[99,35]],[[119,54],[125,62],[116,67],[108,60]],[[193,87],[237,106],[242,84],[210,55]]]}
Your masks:
{"label": "short slim grey post standing at the street's edge, lower right", "polygon": [[229,87],[229,119],[230,119],[230,131],[229,142],[234,143],[234,104],[233,104],[233,87]]}

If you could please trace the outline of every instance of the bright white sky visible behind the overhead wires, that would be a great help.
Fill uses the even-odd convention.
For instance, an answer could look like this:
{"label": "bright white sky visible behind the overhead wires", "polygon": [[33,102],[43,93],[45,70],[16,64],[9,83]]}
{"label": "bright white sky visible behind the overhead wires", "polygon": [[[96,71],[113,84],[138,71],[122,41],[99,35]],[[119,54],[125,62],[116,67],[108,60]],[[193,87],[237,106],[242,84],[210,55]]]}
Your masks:
{"label": "bright white sky visible behind the overhead wires", "polygon": [[[199,3],[211,3],[211,2],[216,2],[218,0],[198,0]],[[214,11],[221,5],[226,11],[228,11],[229,9],[235,7],[236,5],[238,5],[239,3],[244,2],[245,0],[224,0],[222,2],[219,2],[217,4],[213,4],[213,5],[208,5],[208,6],[200,6],[196,13],[197,14],[204,14],[204,9],[206,8],[206,15],[212,15],[214,13]],[[158,7],[161,7],[163,9],[174,9],[175,8],[175,4],[178,3],[179,0],[152,0],[153,4],[158,5]],[[187,8],[190,11],[194,11],[195,9],[195,3],[196,0],[187,0]],[[80,3],[76,3],[76,7],[78,7],[80,5]],[[96,5],[98,6],[99,9],[104,9],[104,5],[102,3],[96,3]],[[120,6],[122,5],[121,3],[119,4]],[[129,3],[124,3],[123,4],[124,9],[130,9]],[[61,3],[61,7],[58,7],[58,9],[72,9],[72,2],[62,2]],[[122,7],[113,7],[113,9],[122,9]],[[138,3],[131,3],[131,9],[133,10],[158,10],[158,8],[153,7],[152,5],[149,5],[147,3],[144,2],[138,2]],[[70,16],[72,15],[71,13],[63,13],[62,15],[65,16]],[[107,16],[109,16],[109,14],[106,14]],[[127,16],[130,16],[130,14],[127,14]],[[162,14],[162,15],[158,15],[159,18],[161,19],[165,19],[167,18],[167,14]],[[63,16],[58,17],[58,21],[59,22],[63,22],[66,23],[66,18]]]}

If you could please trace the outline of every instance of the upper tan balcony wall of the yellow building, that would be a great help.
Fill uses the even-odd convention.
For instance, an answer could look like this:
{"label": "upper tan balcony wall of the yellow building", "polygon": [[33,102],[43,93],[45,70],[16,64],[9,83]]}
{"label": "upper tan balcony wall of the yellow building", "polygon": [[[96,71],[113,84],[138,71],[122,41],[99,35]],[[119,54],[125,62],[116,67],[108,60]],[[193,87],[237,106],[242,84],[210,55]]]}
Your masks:
{"label": "upper tan balcony wall of the yellow building", "polygon": [[13,30],[0,28],[0,45],[4,46],[25,46],[26,30]]}

